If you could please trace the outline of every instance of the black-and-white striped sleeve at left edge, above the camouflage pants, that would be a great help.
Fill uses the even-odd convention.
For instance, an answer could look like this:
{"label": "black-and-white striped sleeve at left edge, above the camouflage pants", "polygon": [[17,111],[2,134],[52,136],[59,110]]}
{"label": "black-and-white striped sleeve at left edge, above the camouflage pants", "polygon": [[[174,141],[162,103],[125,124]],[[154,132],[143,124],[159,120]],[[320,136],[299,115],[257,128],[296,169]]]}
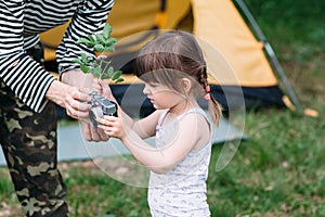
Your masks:
{"label": "black-and-white striped sleeve at left edge, above the camouflage pants", "polygon": [[26,105],[41,112],[55,78],[24,51],[24,0],[0,1],[0,76]]}

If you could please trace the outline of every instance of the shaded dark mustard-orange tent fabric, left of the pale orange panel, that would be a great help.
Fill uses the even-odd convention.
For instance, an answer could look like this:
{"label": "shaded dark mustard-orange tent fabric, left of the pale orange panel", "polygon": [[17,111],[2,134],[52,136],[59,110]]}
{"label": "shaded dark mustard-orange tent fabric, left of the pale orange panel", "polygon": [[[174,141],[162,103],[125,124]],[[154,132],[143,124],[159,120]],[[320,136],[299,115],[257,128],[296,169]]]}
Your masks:
{"label": "shaded dark mustard-orange tent fabric, left of the pale orange panel", "polygon": [[[190,8],[190,0],[116,0],[107,18],[113,27],[112,37],[118,38],[116,52],[122,52],[126,43],[141,39],[143,31],[176,28]],[[46,48],[44,61],[55,61],[55,48],[68,24],[69,22],[40,35]],[[150,40],[144,38],[146,40],[135,43],[136,48]]]}

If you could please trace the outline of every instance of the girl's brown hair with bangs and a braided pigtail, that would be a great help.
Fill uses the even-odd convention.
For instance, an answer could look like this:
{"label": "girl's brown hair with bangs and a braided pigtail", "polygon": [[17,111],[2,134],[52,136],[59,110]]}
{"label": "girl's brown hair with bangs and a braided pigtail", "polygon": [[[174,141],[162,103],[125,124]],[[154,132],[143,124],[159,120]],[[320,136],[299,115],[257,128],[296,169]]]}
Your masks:
{"label": "girl's brown hair with bangs and a braided pigtail", "polygon": [[204,54],[192,34],[180,30],[161,34],[140,49],[133,63],[140,79],[159,82],[180,93],[184,93],[181,78],[188,77],[194,84],[195,97],[208,94],[210,98],[208,110],[219,125],[221,106],[210,93]]}

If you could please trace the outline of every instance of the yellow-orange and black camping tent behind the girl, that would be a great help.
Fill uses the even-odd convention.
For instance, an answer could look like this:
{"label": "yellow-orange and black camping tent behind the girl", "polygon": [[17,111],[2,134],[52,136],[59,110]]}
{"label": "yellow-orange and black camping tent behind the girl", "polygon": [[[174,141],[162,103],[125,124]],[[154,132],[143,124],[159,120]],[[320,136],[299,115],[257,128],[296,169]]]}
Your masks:
{"label": "yellow-orange and black camping tent behind the girl", "polygon": [[[131,67],[138,49],[157,34],[182,29],[197,37],[206,55],[211,92],[225,110],[243,103],[247,108],[285,106],[263,43],[253,37],[231,0],[116,0],[107,23],[113,27],[112,36],[118,39],[116,52],[109,54],[112,63],[123,72],[126,79],[121,85],[110,86],[118,92],[117,98],[131,84],[141,84],[132,76]],[[52,65],[55,48],[67,25],[40,36],[49,71],[56,68]],[[244,101],[238,100],[243,97]]]}

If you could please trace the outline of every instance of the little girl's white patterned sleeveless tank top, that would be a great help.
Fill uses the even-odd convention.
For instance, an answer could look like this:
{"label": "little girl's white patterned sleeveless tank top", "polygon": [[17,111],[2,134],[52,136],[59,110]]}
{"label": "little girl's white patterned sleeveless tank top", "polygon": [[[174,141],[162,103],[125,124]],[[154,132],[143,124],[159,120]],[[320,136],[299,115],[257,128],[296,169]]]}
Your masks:
{"label": "little girl's white patterned sleeveless tank top", "polygon": [[[168,113],[166,110],[159,117],[156,128],[157,149],[165,146],[165,129],[161,123]],[[178,116],[181,119],[188,113],[199,113],[209,123],[206,113],[194,107]],[[177,123],[177,122],[176,122]],[[210,128],[211,124],[209,123]],[[211,130],[212,132],[212,130]],[[166,174],[151,171],[148,184],[148,204],[152,216],[210,216],[207,203],[206,180],[211,154],[211,138],[199,149],[192,150],[174,168]]]}

